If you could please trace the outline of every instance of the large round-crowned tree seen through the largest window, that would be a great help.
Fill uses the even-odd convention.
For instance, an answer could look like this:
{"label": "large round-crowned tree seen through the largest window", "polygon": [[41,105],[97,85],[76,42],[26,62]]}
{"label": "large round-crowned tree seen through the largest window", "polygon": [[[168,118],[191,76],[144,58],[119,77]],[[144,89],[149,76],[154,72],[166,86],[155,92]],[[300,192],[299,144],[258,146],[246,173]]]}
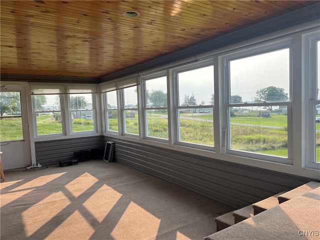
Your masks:
{"label": "large round-crowned tree seen through the largest window", "polygon": [[[276,86],[268,86],[256,91],[255,101],[260,102],[275,102],[286,101],[288,94],[284,92],[283,88]],[[272,106],[267,106],[269,110],[272,110]]]}

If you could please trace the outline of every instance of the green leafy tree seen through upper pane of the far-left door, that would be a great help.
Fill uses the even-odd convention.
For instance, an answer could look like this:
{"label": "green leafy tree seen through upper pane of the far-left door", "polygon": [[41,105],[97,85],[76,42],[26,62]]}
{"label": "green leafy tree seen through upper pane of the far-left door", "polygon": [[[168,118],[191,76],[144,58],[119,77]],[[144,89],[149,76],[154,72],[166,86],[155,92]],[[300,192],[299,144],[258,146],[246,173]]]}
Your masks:
{"label": "green leafy tree seen through upper pane of the far-left door", "polygon": [[20,93],[17,91],[1,91],[0,115],[3,113],[21,112]]}

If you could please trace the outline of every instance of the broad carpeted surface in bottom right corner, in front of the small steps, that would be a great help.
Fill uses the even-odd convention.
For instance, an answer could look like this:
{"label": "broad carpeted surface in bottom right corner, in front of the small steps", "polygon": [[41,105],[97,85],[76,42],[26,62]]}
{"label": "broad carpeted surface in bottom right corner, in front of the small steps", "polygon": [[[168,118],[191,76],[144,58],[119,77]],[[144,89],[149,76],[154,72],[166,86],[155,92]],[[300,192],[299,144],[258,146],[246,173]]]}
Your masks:
{"label": "broad carpeted surface in bottom right corner, in front of the small steps", "polygon": [[[319,229],[319,212],[320,187],[278,204],[222,231],[212,233],[203,239],[316,240],[319,239],[318,230],[304,229]],[[302,236],[303,234],[304,236]]]}

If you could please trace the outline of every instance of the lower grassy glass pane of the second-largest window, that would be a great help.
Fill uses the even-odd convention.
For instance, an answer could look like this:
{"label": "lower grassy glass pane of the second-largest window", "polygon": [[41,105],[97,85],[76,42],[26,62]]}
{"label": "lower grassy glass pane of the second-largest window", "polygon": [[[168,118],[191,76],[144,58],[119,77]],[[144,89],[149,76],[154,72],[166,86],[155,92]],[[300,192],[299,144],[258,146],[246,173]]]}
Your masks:
{"label": "lower grassy glass pane of the second-largest window", "polygon": [[179,141],[213,146],[212,112],[212,107],[179,110]]}

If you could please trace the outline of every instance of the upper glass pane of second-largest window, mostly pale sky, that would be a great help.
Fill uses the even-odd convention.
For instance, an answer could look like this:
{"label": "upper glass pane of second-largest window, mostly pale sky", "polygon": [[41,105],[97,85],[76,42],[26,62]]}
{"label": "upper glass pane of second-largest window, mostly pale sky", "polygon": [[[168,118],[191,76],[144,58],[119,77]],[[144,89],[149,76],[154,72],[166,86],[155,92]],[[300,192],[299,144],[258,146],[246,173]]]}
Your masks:
{"label": "upper glass pane of second-largest window, mostly pale sky", "polygon": [[179,106],[210,105],[213,95],[213,66],[178,73]]}

